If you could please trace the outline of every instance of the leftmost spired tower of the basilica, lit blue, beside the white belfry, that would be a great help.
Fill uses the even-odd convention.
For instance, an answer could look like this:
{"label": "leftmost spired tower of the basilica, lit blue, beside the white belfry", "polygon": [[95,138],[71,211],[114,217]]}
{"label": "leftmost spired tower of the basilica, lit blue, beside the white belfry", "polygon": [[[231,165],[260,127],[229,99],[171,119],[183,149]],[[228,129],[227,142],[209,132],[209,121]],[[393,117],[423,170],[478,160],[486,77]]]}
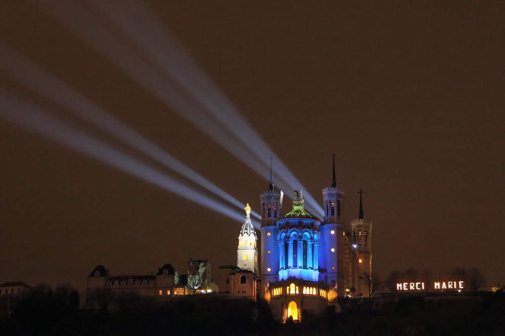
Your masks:
{"label": "leftmost spired tower of the basilica, lit blue, beside the white belfry", "polygon": [[265,297],[270,283],[279,281],[279,229],[277,220],[280,216],[283,192],[273,187],[273,162],[270,158],[270,179],[268,190],[260,192],[261,204],[261,264],[260,296]]}

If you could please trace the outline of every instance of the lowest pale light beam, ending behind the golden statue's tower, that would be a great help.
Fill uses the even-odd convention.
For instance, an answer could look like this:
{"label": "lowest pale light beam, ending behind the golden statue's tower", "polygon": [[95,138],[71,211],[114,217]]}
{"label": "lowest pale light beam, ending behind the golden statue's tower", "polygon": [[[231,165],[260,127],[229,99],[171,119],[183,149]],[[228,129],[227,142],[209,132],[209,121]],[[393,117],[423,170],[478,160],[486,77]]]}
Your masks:
{"label": "lowest pale light beam, ending behind the golden statue's tower", "polygon": [[[197,202],[236,221],[244,214],[198,191],[179,183],[149,165],[132,158],[114,146],[49,115],[25,99],[20,99],[0,87],[0,117],[27,128],[65,147],[98,159],[118,170],[131,174],[181,197]],[[258,224],[254,223],[258,228]]]}

